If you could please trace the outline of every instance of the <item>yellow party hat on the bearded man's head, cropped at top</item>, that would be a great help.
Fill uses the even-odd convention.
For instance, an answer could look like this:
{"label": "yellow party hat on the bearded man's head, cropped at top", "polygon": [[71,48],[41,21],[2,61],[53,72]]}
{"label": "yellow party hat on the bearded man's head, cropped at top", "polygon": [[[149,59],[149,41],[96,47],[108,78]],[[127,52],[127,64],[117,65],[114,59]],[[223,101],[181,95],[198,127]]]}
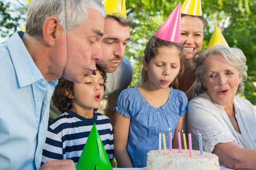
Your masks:
{"label": "yellow party hat on the bearded man's head, cropped at top", "polygon": [[125,0],[102,0],[108,15],[113,13],[121,14],[121,17],[126,18]]}

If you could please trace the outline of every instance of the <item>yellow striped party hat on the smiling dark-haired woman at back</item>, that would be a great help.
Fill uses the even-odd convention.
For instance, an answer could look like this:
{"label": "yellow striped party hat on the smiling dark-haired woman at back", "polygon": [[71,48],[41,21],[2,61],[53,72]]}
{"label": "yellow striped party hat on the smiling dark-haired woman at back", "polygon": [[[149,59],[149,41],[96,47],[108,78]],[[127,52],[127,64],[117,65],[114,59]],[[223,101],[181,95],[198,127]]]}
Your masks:
{"label": "yellow striped party hat on the smiling dark-haired woman at back", "polygon": [[201,16],[201,0],[185,0],[181,7],[181,13],[193,16]]}

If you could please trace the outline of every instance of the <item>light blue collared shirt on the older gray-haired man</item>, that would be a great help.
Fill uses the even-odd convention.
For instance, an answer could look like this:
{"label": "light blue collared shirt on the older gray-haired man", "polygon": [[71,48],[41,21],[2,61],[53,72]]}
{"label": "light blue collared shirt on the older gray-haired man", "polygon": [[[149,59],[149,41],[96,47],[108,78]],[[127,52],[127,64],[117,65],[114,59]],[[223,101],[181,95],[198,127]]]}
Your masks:
{"label": "light blue collared shirt on the older gray-haired man", "polygon": [[49,101],[47,82],[16,32],[0,45],[0,170],[39,169]]}

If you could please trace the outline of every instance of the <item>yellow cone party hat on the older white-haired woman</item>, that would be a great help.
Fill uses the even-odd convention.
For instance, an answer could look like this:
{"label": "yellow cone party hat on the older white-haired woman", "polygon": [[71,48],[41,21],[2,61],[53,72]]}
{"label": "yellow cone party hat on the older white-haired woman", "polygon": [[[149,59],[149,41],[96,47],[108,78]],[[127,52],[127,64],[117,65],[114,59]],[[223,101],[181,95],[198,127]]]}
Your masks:
{"label": "yellow cone party hat on the older white-haired woman", "polygon": [[229,44],[226,42],[224,36],[219,31],[218,26],[215,26],[215,29],[214,29],[213,34],[211,35],[207,50],[209,50],[210,47],[217,45],[217,44],[223,44],[223,45],[226,45],[229,47]]}

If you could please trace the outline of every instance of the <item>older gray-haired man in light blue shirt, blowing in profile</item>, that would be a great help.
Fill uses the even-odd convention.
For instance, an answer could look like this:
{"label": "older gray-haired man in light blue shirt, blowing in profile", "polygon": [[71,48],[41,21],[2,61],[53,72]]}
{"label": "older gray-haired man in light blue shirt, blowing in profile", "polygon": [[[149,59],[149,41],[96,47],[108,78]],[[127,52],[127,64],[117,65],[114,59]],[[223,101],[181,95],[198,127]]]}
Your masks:
{"label": "older gray-haired man in light blue shirt, blowing in profile", "polygon": [[[57,79],[82,83],[102,59],[106,11],[101,0],[31,0],[26,33],[0,45],[0,169],[37,170]],[[70,160],[40,170],[73,169]]]}

